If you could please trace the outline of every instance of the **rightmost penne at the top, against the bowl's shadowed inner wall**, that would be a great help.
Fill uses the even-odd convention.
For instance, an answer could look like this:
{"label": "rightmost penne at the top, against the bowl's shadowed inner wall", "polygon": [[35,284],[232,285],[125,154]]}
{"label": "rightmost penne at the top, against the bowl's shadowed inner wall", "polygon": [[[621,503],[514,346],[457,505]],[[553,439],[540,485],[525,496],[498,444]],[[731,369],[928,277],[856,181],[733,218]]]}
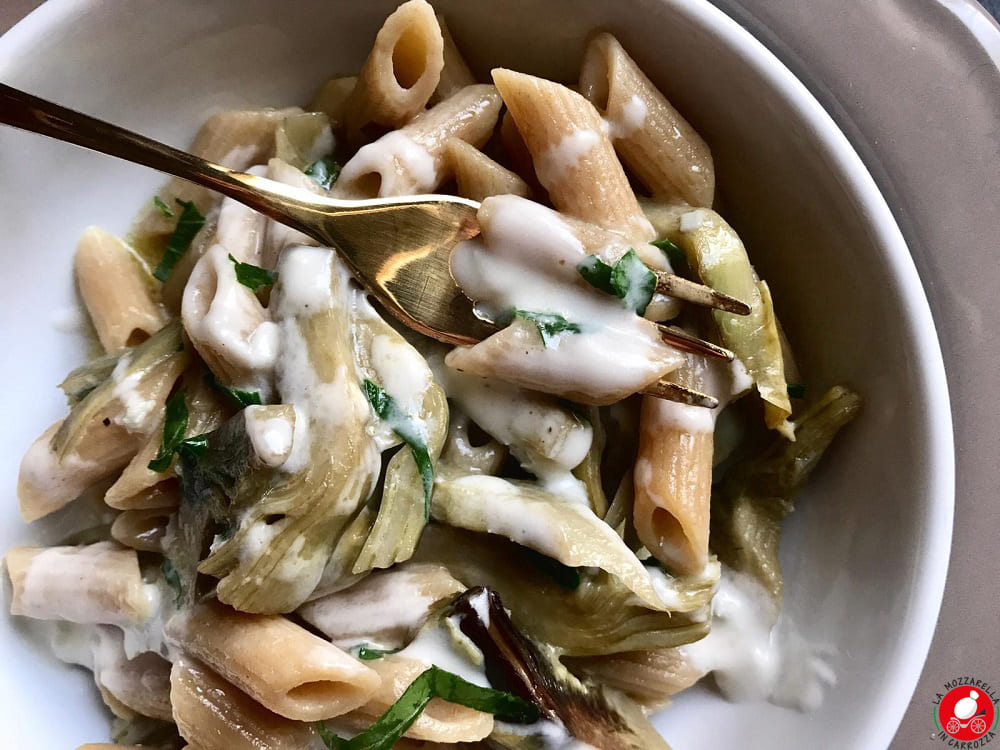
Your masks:
{"label": "rightmost penne at the top, against the bowl's shadowed inner wall", "polygon": [[580,92],[604,116],[615,149],[655,197],[712,205],[711,151],[611,34],[588,42]]}

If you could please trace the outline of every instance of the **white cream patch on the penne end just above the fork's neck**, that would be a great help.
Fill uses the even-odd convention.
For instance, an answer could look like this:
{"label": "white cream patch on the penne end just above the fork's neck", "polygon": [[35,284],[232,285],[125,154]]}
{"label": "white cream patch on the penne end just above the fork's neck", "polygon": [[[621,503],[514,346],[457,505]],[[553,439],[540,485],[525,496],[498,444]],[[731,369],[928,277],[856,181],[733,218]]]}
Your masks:
{"label": "white cream patch on the penne end just above the fork's neck", "polygon": [[431,153],[398,130],[358,149],[344,165],[337,184],[350,190],[352,183],[371,174],[380,178],[380,198],[430,192],[440,181]]}

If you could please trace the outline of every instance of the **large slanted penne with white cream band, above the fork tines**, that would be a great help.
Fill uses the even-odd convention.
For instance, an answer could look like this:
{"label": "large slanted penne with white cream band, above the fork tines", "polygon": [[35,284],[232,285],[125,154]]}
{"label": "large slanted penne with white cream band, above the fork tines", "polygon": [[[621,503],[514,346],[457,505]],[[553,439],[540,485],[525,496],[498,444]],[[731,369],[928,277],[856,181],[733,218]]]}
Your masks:
{"label": "large slanted penne with white cream band, above the fork tines", "polygon": [[558,83],[504,68],[493,71],[493,82],[556,208],[633,241],[653,239],[590,102]]}

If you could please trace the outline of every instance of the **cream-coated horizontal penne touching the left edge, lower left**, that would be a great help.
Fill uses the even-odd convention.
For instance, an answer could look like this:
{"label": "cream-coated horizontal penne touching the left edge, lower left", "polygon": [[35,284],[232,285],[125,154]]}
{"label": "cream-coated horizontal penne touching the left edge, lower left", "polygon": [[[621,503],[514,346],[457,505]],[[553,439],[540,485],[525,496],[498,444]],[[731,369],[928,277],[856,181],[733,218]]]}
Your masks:
{"label": "cream-coated horizontal penne touching the left edge, lower left", "polygon": [[6,562],[14,615],[129,627],[148,620],[158,604],[136,551],[112,542],[15,547]]}

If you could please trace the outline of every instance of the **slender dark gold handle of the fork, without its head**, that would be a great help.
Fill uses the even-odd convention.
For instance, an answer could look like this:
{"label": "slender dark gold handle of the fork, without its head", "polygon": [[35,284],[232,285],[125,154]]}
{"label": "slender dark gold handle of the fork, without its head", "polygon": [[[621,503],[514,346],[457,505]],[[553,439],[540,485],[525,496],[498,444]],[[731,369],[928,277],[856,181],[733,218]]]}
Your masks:
{"label": "slender dark gold handle of the fork, without its head", "polygon": [[214,164],[4,83],[0,83],[0,123],[152,167],[216,190],[296,229],[302,228],[295,206],[290,205],[298,201],[294,196],[281,195],[278,183],[271,183],[275,187],[262,185],[253,175]]}

